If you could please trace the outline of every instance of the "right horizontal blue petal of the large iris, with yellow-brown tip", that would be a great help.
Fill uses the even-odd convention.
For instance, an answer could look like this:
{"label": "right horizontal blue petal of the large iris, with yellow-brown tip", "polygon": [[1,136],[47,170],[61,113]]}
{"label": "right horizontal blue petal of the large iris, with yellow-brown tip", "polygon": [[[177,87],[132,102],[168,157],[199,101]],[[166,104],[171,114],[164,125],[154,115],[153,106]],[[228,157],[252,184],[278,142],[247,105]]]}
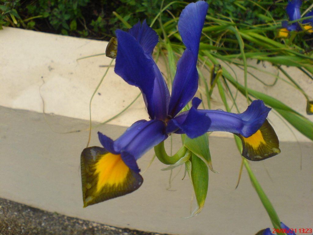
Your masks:
{"label": "right horizontal blue petal of the large iris, with yellow-brown tip", "polygon": [[185,133],[190,138],[207,131],[234,133],[242,141],[242,155],[251,161],[260,161],[280,153],[277,135],[266,120],[269,111],[261,100],[253,101],[243,113],[192,107],[173,118],[167,125],[167,132]]}

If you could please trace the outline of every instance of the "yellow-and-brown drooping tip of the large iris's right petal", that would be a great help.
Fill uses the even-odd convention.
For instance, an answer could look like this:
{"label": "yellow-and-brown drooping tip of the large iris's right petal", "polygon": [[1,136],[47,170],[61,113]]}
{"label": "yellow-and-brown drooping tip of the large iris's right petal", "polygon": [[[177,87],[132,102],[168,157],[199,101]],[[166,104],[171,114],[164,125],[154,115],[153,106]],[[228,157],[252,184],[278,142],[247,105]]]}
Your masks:
{"label": "yellow-and-brown drooping tip of the large iris's right petal", "polygon": [[280,153],[279,140],[267,120],[261,128],[248,138],[239,135],[243,150],[242,155],[251,161],[260,161]]}

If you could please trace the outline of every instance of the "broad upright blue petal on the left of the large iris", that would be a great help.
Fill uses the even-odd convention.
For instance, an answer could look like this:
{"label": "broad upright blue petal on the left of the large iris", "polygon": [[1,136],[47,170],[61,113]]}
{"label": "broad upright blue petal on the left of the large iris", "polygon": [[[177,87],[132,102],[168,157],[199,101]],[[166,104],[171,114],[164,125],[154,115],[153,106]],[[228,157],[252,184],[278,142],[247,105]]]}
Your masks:
{"label": "broad upright blue petal on the left of the large iris", "polygon": [[136,24],[131,33],[142,45],[133,35],[116,30],[118,46],[114,71],[128,84],[139,87],[151,119],[165,120],[170,95],[160,70],[148,54],[155,43],[149,41],[153,30],[146,24],[138,27]]}

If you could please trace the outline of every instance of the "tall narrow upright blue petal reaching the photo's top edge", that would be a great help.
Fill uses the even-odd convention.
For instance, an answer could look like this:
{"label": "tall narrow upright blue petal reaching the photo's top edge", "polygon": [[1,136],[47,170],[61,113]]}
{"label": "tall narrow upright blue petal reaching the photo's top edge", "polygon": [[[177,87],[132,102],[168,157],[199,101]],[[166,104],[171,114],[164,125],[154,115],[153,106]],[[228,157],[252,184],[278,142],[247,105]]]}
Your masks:
{"label": "tall narrow upright blue petal reaching the photo's top edge", "polygon": [[192,99],[198,89],[197,60],[200,36],[208,11],[208,3],[190,3],[182,11],[178,21],[178,31],[186,50],[177,63],[177,71],[172,86],[172,96],[168,116],[173,118]]}

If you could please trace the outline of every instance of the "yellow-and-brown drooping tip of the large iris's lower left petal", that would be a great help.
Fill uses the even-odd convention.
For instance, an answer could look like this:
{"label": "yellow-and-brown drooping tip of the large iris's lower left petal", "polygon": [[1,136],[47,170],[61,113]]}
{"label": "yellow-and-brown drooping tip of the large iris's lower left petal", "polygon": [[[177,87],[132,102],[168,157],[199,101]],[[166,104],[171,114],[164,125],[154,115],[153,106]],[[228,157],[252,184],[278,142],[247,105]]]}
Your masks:
{"label": "yellow-and-brown drooping tip of the large iris's lower left petal", "polygon": [[131,193],[143,182],[120,154],[106,152],[104,148],[84,149],[80,166],[84,207]]}

